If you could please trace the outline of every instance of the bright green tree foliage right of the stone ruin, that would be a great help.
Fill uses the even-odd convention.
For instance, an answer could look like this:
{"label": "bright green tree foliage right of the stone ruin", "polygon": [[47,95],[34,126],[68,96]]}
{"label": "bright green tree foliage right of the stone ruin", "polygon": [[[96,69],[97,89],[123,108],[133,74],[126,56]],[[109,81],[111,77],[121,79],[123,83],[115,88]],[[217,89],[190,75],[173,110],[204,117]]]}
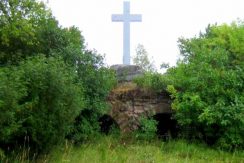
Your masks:
{"label": "bright green tree foliage right of the stone ruin", "polygon": [[[176,118],[190,138],[244,147],[244,24],[212,25],[179,39],[183,59],[167,72]],[[186,132],[185,132],[186,133]]]}

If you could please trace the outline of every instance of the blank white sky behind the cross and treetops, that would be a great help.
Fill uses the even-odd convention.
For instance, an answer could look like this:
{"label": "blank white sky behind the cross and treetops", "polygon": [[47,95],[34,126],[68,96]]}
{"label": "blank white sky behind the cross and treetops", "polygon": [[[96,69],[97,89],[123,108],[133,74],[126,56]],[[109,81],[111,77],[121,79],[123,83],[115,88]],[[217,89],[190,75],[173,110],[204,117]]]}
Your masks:
{"label": "blank white sky behind the cross and treetops", "polygon": [[[244,18],[244,0],[130,0],[131,14],[142,22],[131,23],[131,55],[143,44],[157,67],[175,65],[179,37],[190,38],[208,24],[231,23]],[[123,23],[112,14],[123,13],[123,0],[49,0],[54,16],[64,27],[82,31],[89,49],[106,54],[108,65],[122,64]]]}

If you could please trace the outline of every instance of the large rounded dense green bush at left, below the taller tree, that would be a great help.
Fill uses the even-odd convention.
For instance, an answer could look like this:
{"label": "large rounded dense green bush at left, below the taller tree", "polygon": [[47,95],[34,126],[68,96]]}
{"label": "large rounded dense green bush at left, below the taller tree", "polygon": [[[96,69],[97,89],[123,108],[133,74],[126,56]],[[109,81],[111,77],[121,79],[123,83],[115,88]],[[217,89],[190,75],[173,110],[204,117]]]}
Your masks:
{"label": "large rounded dense green bush at left, below the taller tree", "polygon": [[0,144],[45,151],[62,141],[84,107],[72,69],[40,56],[0,72]]}

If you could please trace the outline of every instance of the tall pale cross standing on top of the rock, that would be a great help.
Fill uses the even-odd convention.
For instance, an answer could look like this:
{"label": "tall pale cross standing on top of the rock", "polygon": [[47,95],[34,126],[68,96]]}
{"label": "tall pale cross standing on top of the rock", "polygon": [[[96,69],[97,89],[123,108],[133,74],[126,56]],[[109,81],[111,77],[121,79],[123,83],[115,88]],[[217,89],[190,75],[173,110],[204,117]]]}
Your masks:
{"label": "tall pale cross standing on top of the rock", "polygon": [[124,48],[123,64],[130,65],[130,22],[141,22],[142,16],[139,14],[130,15],[130,2],[124,1],[124,13],[112,15],[113,22],[124,22]]}

